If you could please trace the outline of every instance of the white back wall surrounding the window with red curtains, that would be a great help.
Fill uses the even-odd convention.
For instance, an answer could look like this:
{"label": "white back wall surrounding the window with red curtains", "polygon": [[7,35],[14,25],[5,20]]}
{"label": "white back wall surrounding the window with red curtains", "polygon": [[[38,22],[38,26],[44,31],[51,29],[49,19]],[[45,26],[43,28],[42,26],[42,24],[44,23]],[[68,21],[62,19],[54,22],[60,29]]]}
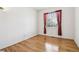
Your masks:
{"label": "white back wall surrounding the window with red curtains", "polygon": [[[63,38],[70,38],[73,39],[74,38],[74,14],[75,14],[75,9],[74,8],[68,8],[68,7],[63,7],[63,8],[47,8],[47,9],[43,9],[39,11],[39,26],[38,26],[38,31],[39,34],[43,35],[43,28],[44,28],[44,20],[43,20],[43,14],[46,12],[53,12],[56,10],[62,10],[62,32],[63,35],[61,37]],[[52,28],[52,29],[48,29],[47,28],[47,35],[49,36],[55,36],[55,37],[59,37],[57,35],[57,28]]]}

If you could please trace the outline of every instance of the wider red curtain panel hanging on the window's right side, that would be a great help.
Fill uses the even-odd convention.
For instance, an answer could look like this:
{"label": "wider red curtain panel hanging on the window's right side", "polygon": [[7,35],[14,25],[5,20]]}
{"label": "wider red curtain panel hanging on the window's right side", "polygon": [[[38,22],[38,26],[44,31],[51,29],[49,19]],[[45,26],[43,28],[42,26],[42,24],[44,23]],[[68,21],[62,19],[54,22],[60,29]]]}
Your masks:
{"label": "wider red curtain panel hanging on the window's right side", "polygon": [[62,35],[62,27],[61,27],[61,21],[62,21],[62,10],[57,10],[57,22],[58,22],[58,35]]}

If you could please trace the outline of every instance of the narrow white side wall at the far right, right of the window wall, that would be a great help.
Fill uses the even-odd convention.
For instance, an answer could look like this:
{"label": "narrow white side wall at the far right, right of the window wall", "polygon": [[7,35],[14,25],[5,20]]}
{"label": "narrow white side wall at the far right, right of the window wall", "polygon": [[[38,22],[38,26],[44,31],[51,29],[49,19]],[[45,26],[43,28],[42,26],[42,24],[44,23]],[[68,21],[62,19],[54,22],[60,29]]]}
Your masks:
{"label": "narrow white side wall at the far right, right of the window wall", "polygon": [[79,8],[76,8],[75,12],[75,42],[79,47]]}

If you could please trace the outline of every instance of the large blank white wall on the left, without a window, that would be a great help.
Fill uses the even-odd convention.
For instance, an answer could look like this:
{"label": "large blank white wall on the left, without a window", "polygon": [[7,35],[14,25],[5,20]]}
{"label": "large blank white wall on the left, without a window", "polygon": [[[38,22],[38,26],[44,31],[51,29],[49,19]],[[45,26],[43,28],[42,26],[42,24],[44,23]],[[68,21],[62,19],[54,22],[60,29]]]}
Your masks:
{"label": "large blank white wall on the left, without a window", "polygon": [[37,35],[37,13],[33,8],[12,7],[0,11],[0,49]]}

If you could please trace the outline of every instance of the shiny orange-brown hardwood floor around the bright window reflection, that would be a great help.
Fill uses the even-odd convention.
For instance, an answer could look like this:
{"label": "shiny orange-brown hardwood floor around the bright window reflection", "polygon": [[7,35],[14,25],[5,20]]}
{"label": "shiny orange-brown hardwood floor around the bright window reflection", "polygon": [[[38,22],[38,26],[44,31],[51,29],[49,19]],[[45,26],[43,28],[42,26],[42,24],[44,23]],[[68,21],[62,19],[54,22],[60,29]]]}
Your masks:
{"label": "shiny orange-brown hardwood floor around the bright window reflection", "polygon": [[28,40],[24,40],[2,50],[5,52],[45,52],[45,42],[58,46],[59,52],[79,52],[79,48],[76,46],[74,40],[43,35],[34,36]]}

